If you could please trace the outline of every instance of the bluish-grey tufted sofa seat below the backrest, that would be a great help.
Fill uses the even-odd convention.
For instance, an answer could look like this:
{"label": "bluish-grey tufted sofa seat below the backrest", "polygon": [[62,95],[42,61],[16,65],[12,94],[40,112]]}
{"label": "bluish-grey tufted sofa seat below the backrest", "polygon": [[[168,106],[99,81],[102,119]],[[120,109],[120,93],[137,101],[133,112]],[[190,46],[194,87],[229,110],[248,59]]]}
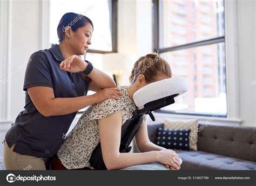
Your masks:
{"label": "bluish-grey tufted sofa seat below the backrest", "polygon": [[181,170],[256,170],[256,162],[202,151],[174,150],[183,159]]}

